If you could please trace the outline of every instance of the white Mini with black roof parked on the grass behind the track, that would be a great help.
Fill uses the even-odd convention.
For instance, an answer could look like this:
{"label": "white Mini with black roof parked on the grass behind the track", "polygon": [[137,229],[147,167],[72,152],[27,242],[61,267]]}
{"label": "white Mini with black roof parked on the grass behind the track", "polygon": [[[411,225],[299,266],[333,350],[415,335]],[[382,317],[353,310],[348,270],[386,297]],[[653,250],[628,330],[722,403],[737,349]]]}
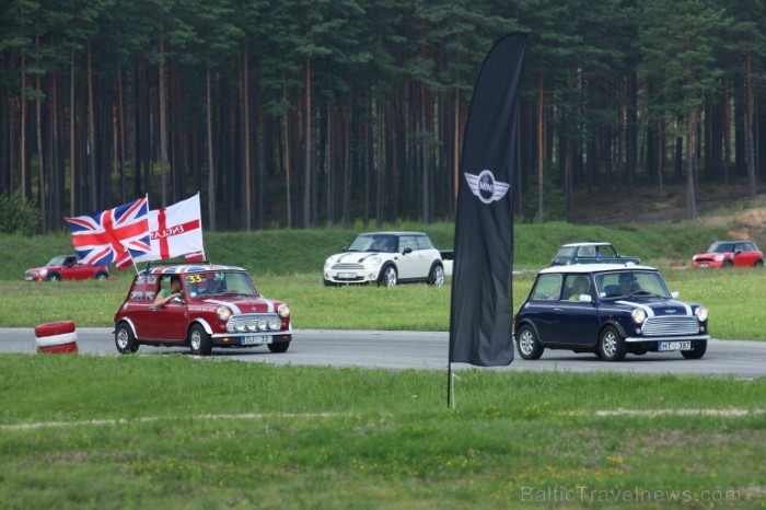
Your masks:
{"label": "white Mini with black roof parked on the grass behind the track", "polygon": [[327,258],[324,283],[375,282],[394,287],[425,281],[441,287],[444,275],[441,253],[425,233],[370,232],[359,234],[344,253]]}

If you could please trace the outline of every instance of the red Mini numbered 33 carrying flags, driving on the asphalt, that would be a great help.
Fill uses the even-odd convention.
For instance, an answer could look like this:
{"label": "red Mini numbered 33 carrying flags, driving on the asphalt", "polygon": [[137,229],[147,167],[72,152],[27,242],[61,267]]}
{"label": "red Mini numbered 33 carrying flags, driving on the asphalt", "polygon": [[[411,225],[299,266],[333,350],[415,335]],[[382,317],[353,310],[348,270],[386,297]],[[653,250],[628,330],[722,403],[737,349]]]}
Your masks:
{"label": "red Mini numbered 33 carrying flags, driving on the asphalt", "polygon": [[[178,289],[166,304],[161,297]],[[162,302],[162,300],[161,300]],[[292,340],[290,306],[258,293],[245,269],[233,266],[149,267],[139,273],[115,314],[115,345],[121,353],[140,345],[186,346],[210,356],[213,347],[267,345],[285,352]]]}

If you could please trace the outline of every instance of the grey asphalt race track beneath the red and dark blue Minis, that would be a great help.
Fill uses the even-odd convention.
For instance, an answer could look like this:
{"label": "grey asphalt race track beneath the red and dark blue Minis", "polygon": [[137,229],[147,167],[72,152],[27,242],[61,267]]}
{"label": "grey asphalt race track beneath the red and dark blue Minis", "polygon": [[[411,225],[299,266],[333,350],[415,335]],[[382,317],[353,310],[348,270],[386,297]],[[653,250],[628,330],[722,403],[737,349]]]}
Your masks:
{"label": "grey asphalt race track beneath the red and dark blue Minis", "polygon": [[[77,344],[80,355],[119,356],[112,328],[78,328]],[[275,355],[260,346],[213,349],[213,358],[274,364],[446,370],[449,334],[444,332],[299,329],[285,353]],[[33,328],[0,328],[0,353],[36,353],[36,350]],[[188,352],[188,349],[141,346],[138,355],[165,352]],[[546,350],[539,360],[525,361],[515,353],[509,367],[490,370],[688,373],[736,378],[766,375],[766,341],[710,340],[707,353],[700,360],[687,360],[680,352],[650,352],[645,356],[628,355],[624,361],[610,363],[590,353]],[[472,366],[453,364],[455,370],[465,368]]]}

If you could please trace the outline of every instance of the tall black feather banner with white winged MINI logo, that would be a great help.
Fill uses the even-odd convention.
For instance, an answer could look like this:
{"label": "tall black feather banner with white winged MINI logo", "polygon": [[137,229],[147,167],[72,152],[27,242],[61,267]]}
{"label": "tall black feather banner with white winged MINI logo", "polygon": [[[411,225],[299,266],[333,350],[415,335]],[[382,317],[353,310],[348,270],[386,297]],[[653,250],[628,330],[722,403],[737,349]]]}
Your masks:
{"label": "tall black feather banner with white winged MINI logo", "polygon": [[525,34],[487,55],[471,102],[457,176],[450,363],[513,361],[513,183]]}

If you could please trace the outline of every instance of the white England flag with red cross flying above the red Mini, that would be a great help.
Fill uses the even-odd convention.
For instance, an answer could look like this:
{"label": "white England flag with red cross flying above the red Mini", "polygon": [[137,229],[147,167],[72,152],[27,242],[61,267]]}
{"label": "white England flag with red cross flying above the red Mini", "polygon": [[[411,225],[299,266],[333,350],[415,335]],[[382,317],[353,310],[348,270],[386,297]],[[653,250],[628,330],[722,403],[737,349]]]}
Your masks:
{"label": "white England flag with red cross flying above the red Mini", "polygon": [[134,258],[134,263],[181,255],[199,255],[204,258],[199,194],[172,206],[149,211],[149,232],[152,250]]}

